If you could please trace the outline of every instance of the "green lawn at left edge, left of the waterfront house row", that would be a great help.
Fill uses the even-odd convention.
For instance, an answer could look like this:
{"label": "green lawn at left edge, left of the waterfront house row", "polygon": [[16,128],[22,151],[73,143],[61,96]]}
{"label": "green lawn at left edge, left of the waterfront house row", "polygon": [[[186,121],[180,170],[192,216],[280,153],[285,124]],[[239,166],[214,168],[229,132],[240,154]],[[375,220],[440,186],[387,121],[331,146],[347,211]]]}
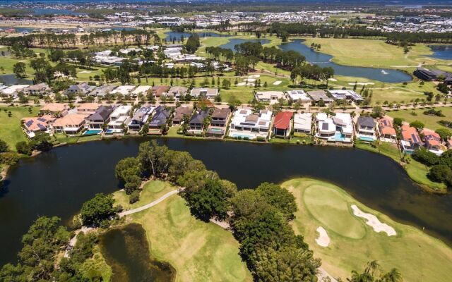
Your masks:
{"label": "green lawn at left edge, left of the waterfront house row", "polygon": [[[28,116],[36,116],[40,107],[32,106],[32,113],[28,106],[0,106],[0,139],[9,145],[9,149],[16,151],[16,143],[27,141],[25,133],[20,128],[20,120]],[[5,111],[6,110],[6,111]],[[8,116],[11,111],[12,116]]]}

